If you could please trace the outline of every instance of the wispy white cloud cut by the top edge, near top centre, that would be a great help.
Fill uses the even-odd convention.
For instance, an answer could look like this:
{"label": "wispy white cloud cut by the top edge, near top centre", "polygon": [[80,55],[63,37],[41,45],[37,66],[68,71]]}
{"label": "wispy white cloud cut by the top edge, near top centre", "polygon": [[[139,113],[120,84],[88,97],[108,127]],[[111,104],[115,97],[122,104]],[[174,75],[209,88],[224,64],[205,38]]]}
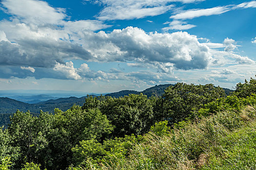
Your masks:
{"label": "wispy white cloud cut by the top edge, near top centre", "polygon": [[169,11],[174,5],[171,2],[192,3],[204,0],[94,0],[104,6],[98,19],[134,19],[148,16],[158,16]]}

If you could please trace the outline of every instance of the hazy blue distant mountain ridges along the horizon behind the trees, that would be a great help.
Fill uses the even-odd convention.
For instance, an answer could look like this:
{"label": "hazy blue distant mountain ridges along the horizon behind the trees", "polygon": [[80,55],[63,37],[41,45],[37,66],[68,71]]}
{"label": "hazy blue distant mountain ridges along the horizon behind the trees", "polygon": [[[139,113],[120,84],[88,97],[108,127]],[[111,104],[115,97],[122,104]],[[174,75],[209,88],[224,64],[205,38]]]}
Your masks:
{"label": "hazy blue distant mountain ridges along the horizon behind the trees", "polygon": [[[153,87],[147,88],[143,91],[135,90],[121,90],[115,93],[105,93],[102,95],[111,96],[111,97],[123,97],[129,94],[139,94],[142,93],[148,97],[155,95],[161,96],[164,93],[164,90],[169,87],[171,84],[166,85],[155,85]],[[225,93],[228,95],[234,90],[223,88]],[[91,93],[89,95],[99,96],[100,94]],[[29,110],[34,115],[38,115],[40,110],[44,112],[54,113],[55,108],[59,108],[62,111],[66,111],[72,105],[83,105],[85,102],[86,96],[83,97],[68,97],[68,98],[58,98],[52,97],[50,95],[12,95],[13,99],[7,97],[0,97],[0,126],[7,125],[9,122],[9,117],[19,109],[20,111]],[[32,99],[32,100],[31,100]],[[47,100],[50,99],[50,100]],[[43,101],[47,100],[47,101]],[[23,101],[23,102],[21,102]]]}

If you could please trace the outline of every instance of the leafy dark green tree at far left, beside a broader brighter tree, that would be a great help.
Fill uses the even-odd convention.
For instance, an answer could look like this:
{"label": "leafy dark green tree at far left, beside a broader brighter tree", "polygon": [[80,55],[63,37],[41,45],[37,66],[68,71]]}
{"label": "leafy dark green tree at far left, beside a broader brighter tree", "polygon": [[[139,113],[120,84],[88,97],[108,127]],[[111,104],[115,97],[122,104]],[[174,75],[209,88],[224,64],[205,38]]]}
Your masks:
{"label": "leafy dark green tree at far left, beside a broader brighter tree", "polygon": [[33,117],[30,112],[20,112],[19,110],[11,117],[11,124],[8,128],[11,145],[19,148],[19,155],[15,160],[15,167],[19,167],[25,162],[42,162],[47,158],[48,140],[46,138],[47,119],[50,114],[41,112],[38,117]]}

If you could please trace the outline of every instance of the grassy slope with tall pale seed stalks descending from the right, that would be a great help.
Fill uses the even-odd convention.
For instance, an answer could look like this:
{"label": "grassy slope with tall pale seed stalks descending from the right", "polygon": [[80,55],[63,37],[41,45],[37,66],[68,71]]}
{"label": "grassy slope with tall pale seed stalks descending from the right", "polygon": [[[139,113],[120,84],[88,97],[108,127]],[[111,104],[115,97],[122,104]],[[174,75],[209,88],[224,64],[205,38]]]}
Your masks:
{"label": "grassy slope with tall pale seed stalks descending from the right", "polygon": [[99,169],[255,170],[256,107],[183,123],[164,136],[146,134],[129,156],[112,158]]}

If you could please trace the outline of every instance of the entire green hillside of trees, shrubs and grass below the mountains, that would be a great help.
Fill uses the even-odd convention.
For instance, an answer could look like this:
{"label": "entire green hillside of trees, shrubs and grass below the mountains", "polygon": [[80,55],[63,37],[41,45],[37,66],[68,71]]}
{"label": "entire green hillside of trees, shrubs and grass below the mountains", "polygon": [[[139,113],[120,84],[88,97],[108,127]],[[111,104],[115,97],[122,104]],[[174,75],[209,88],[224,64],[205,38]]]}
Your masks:
{"label": "entire green hillside of trees, shrubs and grass below the mountains", "polygon": [[256,79],[162,95],[87,96],[54,114],[16,111],[0,130],[0,170],[255,170]]}

